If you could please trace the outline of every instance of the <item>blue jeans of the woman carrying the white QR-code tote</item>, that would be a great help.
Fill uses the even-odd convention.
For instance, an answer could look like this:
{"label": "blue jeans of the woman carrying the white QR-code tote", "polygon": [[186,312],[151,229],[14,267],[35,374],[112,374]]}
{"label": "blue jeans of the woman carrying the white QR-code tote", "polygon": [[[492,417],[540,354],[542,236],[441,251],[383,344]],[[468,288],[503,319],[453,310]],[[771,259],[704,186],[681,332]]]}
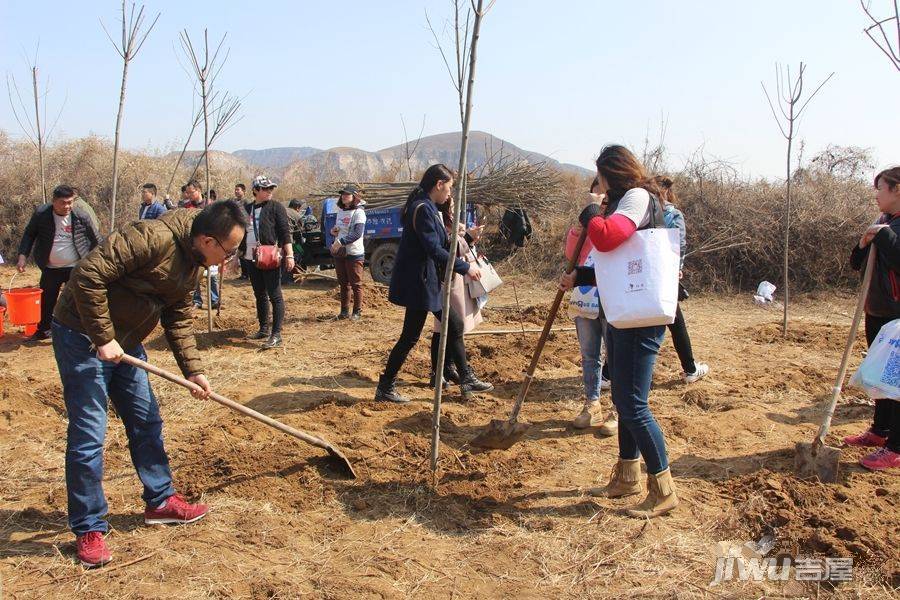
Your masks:
{"label": "blue jeans of the woman carrying the white QR-code tote", "polygon": [[655,475],[669,468],[662,429],[650,412],[653,367],[666,328],[608,328],[606,358],[612,375],[612,400],[619,413],[619,458],[641,456],[647,472]]}

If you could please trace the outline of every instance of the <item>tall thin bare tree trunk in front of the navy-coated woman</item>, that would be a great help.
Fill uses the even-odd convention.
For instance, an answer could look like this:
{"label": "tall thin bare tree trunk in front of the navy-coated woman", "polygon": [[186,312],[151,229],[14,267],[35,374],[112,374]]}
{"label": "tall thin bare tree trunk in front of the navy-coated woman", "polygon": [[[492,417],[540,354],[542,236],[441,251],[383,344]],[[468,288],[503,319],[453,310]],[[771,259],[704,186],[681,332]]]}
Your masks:
{"label": "tall thin bare tree trunk in front of the navy-coated woman", "polygon": [[[469,127],[472,122],[472,91],[475,87],[475,64],[477,61],[477,48],[478,48],[478,38],[481,33],[481,21],[484,19],[484,16],[491,9],[494,4],[494,0],[489,0],[487,7],[484,6],[484,0],[470,0],[471,2],[471,10],[474,13],[474,22],[472,25],[472,39],[471,43],[468,46],[465,44],[462,46],[465,48],[465,52],[462,55],[462,58],[457,59],[459,61],[465,61],[468,58],[468,67],[466,69],[467,72],[467,80],[465,85],[461,88],[465,90],[465,103],[462,105],[463,110],[461,111],[462,115],[462,141],[460,144],[460,152],[459,152],[459,182],[457,187],[457,197],[456,202],[454,204],[453,209],[453,221],[450,226],[450,259],[447,261],[446,268],[444,269],[444,287],[442,290],[442,298],[441,298],[441,309],[443,315],[450,314],[450,286],[453,282],[453,263],[456,258],[456,249],[458,245],[458,236],[457,230],[460,223],[460,215],[465,215],[463,207],[465,206],[466,198],[465,198],[465,190],[466,190],[466,152],[469,147]],[[458,24],[459,18],[459,1],[454,0],[454,9]],[[468,23],[468,18],[466,20]],[[430,23],[429,23],[430,25]],[[434,30],[432,29],[432,32]],[[468,29],[466,29],[468,31]],[[460,43],[459,43],[459,27],[457,26],[457,53],[460,52]],[[443,50],[441,51],[441,55],[444,56]],[[446,57],[444,58],[444,62],[446,63]],[[433,419],[432,419],[432,434],[431,434],[431,472],[432,475],[435,475],[437,472],[437,460],[438,460],[438,448],[440,445],[440,431],[441,431],[441,395],[443,393],[443,385],[441,385],[441,379],[444,374],[444,363],[447,358],[447,331],[448,324],[450,319],[443,318],[441,319],[441,335],[440,340],[438,342],[438,358],[437,364],[435,365],[435,385],[434,385],[434,411],[433,411]],[[464,377],[465,374],[461,373],[461,377]]]}

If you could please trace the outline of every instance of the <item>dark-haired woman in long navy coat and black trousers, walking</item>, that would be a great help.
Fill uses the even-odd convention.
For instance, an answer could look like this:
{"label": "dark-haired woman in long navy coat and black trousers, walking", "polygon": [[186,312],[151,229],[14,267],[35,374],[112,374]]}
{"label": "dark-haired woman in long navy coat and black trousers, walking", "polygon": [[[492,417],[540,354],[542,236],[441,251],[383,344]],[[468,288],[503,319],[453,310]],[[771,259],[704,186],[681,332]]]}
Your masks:
{"label": "dark-haired woman in long navy coat and black trousers, walking", "polygon": [[[422,181],[410,193],[403,207],[403,234],[391,273],[388,300],[406,308],[403,331],[394,344],[384,373],[378,379],[376,400],[388,402],[409,402],[397,393],[397,373],[400,372],[410,350],[419,341],[428,313],[441,319],[441,279],[450,257],[450,238],[444,227],[438,206],[450,200],[453,191],[453,172],[446,166],[437,164],[428,167]],[[454,257],[453,270],[468,275],[474,280],[481,279],[481,271]],[[447,356],[456,365],[462,378],[460,386],[464,396],[473,392],[494,389],[489,383],[479,381],[466,360],[463,344],[462,317],[452,308],[448,315]]]}

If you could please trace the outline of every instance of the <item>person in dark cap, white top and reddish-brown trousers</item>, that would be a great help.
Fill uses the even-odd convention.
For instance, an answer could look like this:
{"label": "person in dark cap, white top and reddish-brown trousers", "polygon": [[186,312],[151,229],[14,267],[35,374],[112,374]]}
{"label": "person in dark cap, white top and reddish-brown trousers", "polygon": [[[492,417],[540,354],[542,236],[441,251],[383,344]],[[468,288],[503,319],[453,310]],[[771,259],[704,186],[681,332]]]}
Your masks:
{"label": "person in dark cap, white top and reddish-brown trousers", "polygon": [[[334,242],[331,255],[334,270],[341,286],[341,312],[338,319],[350,318],[358,321],[362,317],[362,273],[366,260],[363,233],[366,229],[366,205],[360,198],[359,188],[345,185],[338,199],[337,219],[331,228]],[[353,313],[350,313],[350,298],[353,298]]]}

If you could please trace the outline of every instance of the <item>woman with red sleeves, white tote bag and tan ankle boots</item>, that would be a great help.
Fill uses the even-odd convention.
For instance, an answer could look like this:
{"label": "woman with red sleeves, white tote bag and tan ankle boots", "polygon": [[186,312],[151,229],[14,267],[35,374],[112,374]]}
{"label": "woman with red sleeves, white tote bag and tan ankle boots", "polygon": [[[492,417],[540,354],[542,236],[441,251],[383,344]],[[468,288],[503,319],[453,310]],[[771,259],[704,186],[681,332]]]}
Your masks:
{"label": "woman with red sleeves, white tote bag and tan ankle boots", "polygon": [[[661,304],[665,305],[663,312],[671,309],[671,318],[665,315],[643,320],[632,318],[624,324],[620,321],[617,325],[612,314],[615,311],[608,307],[612,308],[613,304],[621,305],[623,302],[621,298],[615,298],[615,302],[604,299],[604,294],[613,286],[607,282],[605,289],[604,282],[597,281],[599,275],[604,273],[599,264],[594,273],[587,269],[576,269],[571,275],[564,275],[560,279],[560,287],[563,289],[570,289],[574,285],[589,285],[592,280],[599,284],[601,303],[609,320],[607,360],[612,379],[612,400],[619,414],[619,460],[613,468],[609,483],[603,488],[592,490],[592,493],[610,498],[641,493],[640,459],[643,457],[647,465],[647,496],[643,502],[628,509],[627,514],[639,518],[655,517],[678,505],[669,471],[666,443],[649,404],[653,368],[665,334],[665,323],[667,319],[672,322],[677,305],[677,235],[672,237],[662,233],[665,230],[658,229],[665,227],[658,198],[659,190],[648,177],[643,165],[627,148],[606,146],[597,158],[597,175],[600,182],[598,191],[606,194],[609,204],[605,211],[599,204],[589,204],[578,219],[581,226],[587,228],[588,239],[596,249],[593,254],[595,261],[603,263],[606,253],[611,253],[628,242],[638,231],[653,234],[649,237],[655,235],[660,238],[661,243],[655,246],[657,253],[633,262],[636,263],[634,269],[645,268],[653,273],[654,280],[641,285],[662,290],[659,295],[663,298]],[[676,233],[674,230],[668,231]],[[669,256],[668,253],[671,252],[674,252],[674,258]],[[628,269],[630,273],[631,264]],[[671,302],[668,299],[670,292],[674,294]],[[647,322],[651,324],[642,324]]]}

